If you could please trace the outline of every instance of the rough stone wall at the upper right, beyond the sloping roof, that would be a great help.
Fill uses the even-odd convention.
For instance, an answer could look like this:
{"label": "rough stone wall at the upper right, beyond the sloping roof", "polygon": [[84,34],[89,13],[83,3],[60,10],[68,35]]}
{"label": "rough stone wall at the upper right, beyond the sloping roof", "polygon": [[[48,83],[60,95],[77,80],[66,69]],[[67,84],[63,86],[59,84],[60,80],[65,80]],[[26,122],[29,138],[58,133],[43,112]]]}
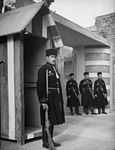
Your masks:
{"label": "rough stone wall at the upper right, beyond the sloping roof", "polygon": [[113,110],[115,110],[115,13],[99,16],[95,21],[96,33],[111,42]]}

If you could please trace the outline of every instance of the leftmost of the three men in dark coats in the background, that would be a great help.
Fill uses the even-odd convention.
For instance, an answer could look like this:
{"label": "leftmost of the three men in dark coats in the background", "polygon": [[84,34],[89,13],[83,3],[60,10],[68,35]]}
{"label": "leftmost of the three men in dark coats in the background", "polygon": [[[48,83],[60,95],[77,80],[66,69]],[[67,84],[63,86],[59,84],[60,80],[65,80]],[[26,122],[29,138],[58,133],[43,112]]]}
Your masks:
{"label": "leftmost of the three men in dark coats in the background", "polygon": [[77,115],[81,115],[79,113],[79,90],[78,90],[78,84],[74,80],[74,73],[69,74],[69,80],[66,84],[66,94],[67,94],[67,107],[70,107],[71,115],[73,115],[73,107],[75,107],[75,113]]}

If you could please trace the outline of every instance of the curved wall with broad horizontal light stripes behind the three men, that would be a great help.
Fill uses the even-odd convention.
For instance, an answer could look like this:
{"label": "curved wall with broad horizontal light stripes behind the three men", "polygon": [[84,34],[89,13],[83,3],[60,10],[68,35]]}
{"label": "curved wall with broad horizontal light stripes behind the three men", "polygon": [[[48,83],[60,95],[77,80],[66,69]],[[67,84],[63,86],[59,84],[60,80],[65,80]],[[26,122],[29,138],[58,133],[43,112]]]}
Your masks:
{"label": "curved wall with broad horizontal light stripes behind the three men", "polygon": [[110,100],[110,49],[85,49],[85,71],[89,72],[93,83],[97,79],[97,72],[102,72],[108,92],[108,100]]}

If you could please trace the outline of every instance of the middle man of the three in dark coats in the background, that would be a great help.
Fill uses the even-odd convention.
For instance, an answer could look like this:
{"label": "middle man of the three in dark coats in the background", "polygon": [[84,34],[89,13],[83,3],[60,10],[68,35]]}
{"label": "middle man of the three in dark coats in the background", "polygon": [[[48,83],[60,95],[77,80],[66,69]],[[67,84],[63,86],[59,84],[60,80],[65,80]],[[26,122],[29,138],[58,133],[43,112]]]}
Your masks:
{"label": "middle man of the three in dark coats in the background", "polygon": [[81,80],[79,85],[79,90],[81,93],[81,105],[84,108],[86,115],[94,113],[93,108],[93,92],[92,92],[92,81],[89,79],[89,72],[84,72],[84,79]]}

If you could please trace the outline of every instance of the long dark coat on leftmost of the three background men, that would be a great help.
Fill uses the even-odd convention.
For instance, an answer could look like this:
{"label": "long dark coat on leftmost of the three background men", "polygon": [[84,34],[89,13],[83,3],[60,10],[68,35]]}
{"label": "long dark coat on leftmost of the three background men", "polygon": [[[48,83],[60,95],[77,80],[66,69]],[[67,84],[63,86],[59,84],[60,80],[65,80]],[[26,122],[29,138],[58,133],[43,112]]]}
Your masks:
{"label": "long dark coat on leftmost of the three background men", "polygon": [[79,90],[77,82],[73,79],[68,80],[66,84],[66,94],[67,94],[67,107],[78,107],[79,102]]}

